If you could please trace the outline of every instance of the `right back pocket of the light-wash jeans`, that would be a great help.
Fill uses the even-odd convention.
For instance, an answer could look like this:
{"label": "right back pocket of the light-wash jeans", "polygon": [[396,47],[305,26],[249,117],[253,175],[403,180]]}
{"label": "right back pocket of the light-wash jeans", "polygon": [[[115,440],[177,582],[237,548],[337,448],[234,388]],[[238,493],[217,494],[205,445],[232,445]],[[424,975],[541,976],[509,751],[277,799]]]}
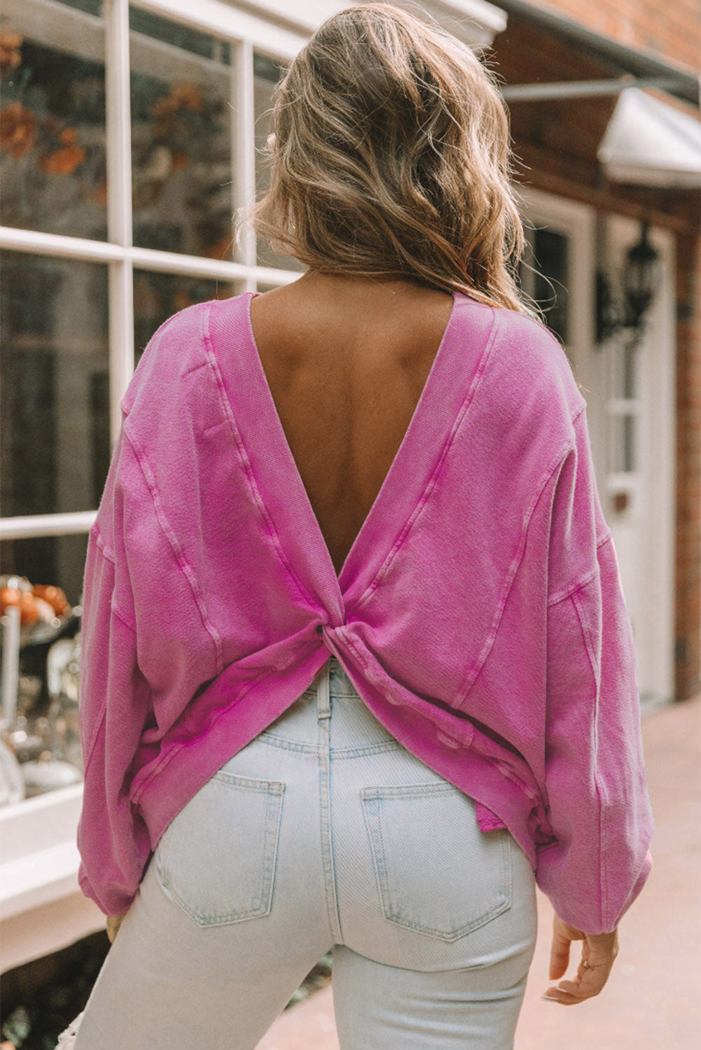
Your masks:
{"label": "right back pocket of the light-wash jeans", "polygon": [[511,907],[511,835],[481,832],[470,796],[449,782],[364,788],[383,912],[456,941]]}

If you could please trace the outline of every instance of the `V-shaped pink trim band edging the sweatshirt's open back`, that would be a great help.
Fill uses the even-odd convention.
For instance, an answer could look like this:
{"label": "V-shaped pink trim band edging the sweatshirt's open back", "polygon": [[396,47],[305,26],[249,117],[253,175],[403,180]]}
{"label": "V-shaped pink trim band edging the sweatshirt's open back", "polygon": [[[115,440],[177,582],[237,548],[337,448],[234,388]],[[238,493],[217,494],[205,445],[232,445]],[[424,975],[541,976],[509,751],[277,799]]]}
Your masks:
{"label": "V-shaped pink trim band edging the sweatshirt's open back", "polygon": [[[245,293],[221,304],[239,315],[235,329],[241,333],[243,321],[245,336],[241,338],[241,333],[235,346],[219,339],[213,342],[252,480],[269,512],[283,558],[300,576],[307,563],[317,588],[319,578],[326,578],[327,591],[335,590],[339,609],[347,609],[362,595],[364,582],[372,580],[400,542],[418,510],[483,357],[493,310],[462,293],[453,293],[450,318],[409,425],[336,575],[263,368],[251,324],[251,298],[252,293]],[[227,318],[221,313],[219,316],[215,328],[224,335],[229,324],[224,323]],[[234,318],[228,320],[233,322]],[[225,338],[227,342],[234,338],[233,332]]]}

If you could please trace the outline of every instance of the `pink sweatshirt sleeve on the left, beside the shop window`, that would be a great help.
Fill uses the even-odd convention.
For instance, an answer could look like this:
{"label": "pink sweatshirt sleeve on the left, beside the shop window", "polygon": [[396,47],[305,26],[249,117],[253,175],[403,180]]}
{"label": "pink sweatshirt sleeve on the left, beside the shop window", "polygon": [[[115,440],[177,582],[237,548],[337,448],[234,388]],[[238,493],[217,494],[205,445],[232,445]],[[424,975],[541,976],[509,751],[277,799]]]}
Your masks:
{"label": "pink sweatshirt sleeve on the left, beside the shop window", "polygon": [[119,549],[116,479],[128,456],[125,446],[122,429],[89,533],[81,625],[79,723],[85,781],[78,880],[105,915],[126,910],[150,853],[148,832],[129,801],[126,781],[149,713],[150,692],[137,659],[133,598],[127,562]]}

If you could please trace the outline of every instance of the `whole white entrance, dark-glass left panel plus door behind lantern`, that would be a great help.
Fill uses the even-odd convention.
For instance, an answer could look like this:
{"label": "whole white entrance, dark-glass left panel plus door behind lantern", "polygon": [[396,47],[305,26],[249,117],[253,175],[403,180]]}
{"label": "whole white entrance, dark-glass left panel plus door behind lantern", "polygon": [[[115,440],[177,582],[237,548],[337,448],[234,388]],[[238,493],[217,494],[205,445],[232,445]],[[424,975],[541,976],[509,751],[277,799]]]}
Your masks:
{"label": "whole white entrance, dark-glass left panel plus door behind lantern", "polygon": [[[675,393],[673,239],[652,229],[662,284],[644,337],[596,341],[596,270],[614,295],[640,224],[586,205],[521,191],[529,249],[525,292],[548,310],[586,400],[599,499],[614,534],[631,616],[641,705],[674,698]],[[598,229],[597,229],[598,225]],[[536,271],[535,273],[533,269]]]}

